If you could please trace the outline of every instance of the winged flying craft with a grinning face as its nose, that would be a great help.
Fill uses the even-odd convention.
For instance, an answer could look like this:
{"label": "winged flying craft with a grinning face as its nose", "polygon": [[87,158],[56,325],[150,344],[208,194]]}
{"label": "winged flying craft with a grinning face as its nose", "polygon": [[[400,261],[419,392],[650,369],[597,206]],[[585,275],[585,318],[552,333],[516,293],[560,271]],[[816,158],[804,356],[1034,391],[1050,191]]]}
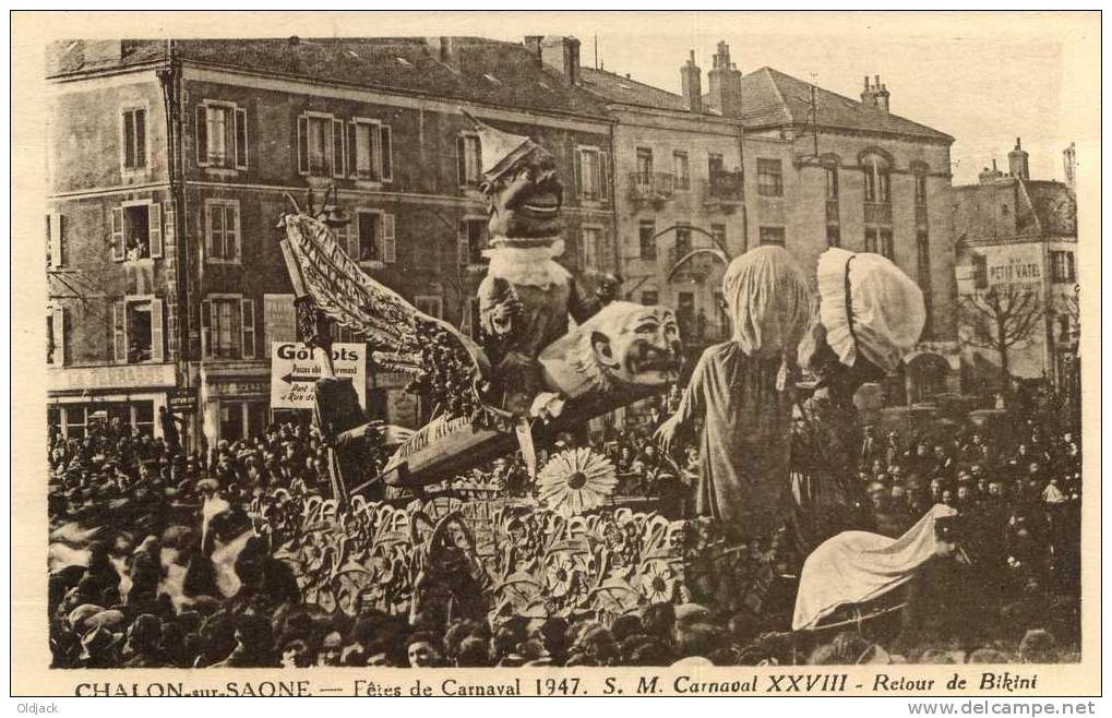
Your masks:
{"label": "winged flying craft with a grinning face as its nose", "polygon": [[582,427],[678,378],[672,310],[614,301],[539,357],[546,389],[566,401],[562,412],[509,416],[484,401],[490,362],[474,341],[369,277],[319,219],[298,211],[285,215],[279,227],[286,230],[287,265],[299,275],[295,290],[301,285],[319,310],[365,337],[379,367],[414,376],[407,390],[440,407],[387,461],[388,485],[443,481],[516,446],[529,451],[532,433]]}

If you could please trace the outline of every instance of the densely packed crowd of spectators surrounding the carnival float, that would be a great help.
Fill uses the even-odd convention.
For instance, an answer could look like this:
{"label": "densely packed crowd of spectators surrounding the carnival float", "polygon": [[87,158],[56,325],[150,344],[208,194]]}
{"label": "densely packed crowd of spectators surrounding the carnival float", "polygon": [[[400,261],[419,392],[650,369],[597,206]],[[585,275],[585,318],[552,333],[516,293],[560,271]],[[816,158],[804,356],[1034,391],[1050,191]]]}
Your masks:
{"label": "densely packed crowd of spectators surrounding the carnival float", "polygon": [[[636,425],[607,431],[595,448],[613,460],[618,495],[654,501],[668,518],[683,518],[689,515],[697,452],[681,447],[666,457],[651,440],[675,401],[673,393]],[[835,664],[898,661],[896,654],[924,662],[1076,657],[1080,437],[1037,410],[982,428],[939,425],[910,440],[896,431],[866,429],[857,478],[874,530],[898,535],[931,505],[950,505],[970,518],[962,546],[976,567],[963,569],[950,561],[926,571],[916,584],[916,605],[934,601],[936,610],[905,617],[906,625],[890,631],[883,647],[867,630],[783,632],[776,591],[788,604],[792,591],[790,579],[780,576],[764,611],[701,605],[689,591],[674,587],[665,569],[652,567],[638,579],[647,588],[631,607],[606,617],[545,610],[543,601],[534,601],[502,606],[488,618],[485,610],[465,605],[460,597],[467,591],[458,586],[444,589],[447,599],[427,604],[449,606],[447,611],[399,597],[371,601],[365,591],[327,594],[299,571],[325,572],[335,580],[345,561],[356,560],[358,542],[341,540],[336,550],[302,547],[300,564],[290,560],[288,550],[291,531],[305,520],[294,515],[304,515],[314,497],[329,496],[321,437],[308,427],[272,426],[261,436],[187,453],[168,425],[163,430],[168,439],[155,439],[112,423],[90,428],[83,437],[52,440],[49,614],[57,667]],[[564,436],[558,443],[582,440]],[[471,489],[470,497],[484,491],[527,497],[532,490],[515,459],[496,461],[458,483]],[[314,506],[320,503],[316,499]],[[314,516],[330,526],[348,522],[341,511],[321,509]],[[761,548],[767,547],[754,547],[756,552]],[[438,577],[459,575],[451,574],[451,560],[430,557],[417,561],[419,571],[407,585],[415,595],[436,595],[441,590]],[[385,571],[397,569],[389,556],[379,558]],[[545,570],[554,577],[545,586],[548,592],[558,598],[576,590],[579,568],[554,564]],[[963,570],[957,582],[946,574]],[[791,571],[781,566],[777,572]],[[781,586],[784,581],[788,588]],[[937,590],[942,585],[949,587],[944,595]]]}

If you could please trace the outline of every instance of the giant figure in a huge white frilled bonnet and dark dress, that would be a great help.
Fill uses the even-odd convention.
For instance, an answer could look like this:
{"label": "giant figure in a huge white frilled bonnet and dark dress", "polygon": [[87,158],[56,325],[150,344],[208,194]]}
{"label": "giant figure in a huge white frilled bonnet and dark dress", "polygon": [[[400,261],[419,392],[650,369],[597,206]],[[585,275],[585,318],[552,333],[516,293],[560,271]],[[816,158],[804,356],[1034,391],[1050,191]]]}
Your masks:
{"label": "giant figure in a huge white frilled bonnet and dark dress", "polygon": [[926,321],[922,290],[880,255],[827,249],[817,280],[818,311],[798,350],[810,380],[797,386],[792,437],[790,536],[801,559],[840,531],[872,528],[854,479],[862,439],[853,397],[898,368]]}

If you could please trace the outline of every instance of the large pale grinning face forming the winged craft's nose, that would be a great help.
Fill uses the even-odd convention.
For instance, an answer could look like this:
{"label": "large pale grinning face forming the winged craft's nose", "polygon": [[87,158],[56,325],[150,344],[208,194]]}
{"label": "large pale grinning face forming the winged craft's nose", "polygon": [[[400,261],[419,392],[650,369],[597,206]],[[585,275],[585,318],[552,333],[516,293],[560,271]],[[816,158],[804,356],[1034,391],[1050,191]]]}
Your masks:
{"label": "large pale grinning face forming the winged craft's nose", "polygon": [[679,377],[679,328],[671,309],[616,301],[580,329],[586,331],[579,340],[577,369],[600,389],[658,387]]}

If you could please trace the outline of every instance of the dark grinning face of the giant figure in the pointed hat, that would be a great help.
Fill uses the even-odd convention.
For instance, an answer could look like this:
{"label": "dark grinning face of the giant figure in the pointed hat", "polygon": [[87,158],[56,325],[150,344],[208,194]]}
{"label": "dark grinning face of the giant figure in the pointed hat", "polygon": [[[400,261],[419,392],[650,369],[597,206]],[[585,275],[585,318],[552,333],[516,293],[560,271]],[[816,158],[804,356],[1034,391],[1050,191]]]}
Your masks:
{"label": "dark grinning face of the giant figure in the pointed hat", "polygon": [[496,179],[484,181],[479,191],[490,215],[490,237],[550,240],[563,229],[559,210],[564,185],[556,159],[542,147],[534,148]]}

